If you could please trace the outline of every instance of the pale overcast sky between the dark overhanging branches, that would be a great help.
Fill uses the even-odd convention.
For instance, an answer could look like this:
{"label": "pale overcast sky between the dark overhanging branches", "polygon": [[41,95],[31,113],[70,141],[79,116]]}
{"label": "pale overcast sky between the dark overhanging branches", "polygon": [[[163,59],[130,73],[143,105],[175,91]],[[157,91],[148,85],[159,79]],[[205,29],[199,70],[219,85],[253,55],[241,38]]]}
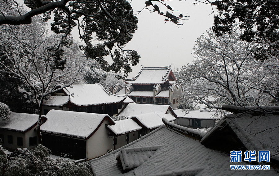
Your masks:
{"label": "pale overcast sky between the dark overhanging branches", "polygon": [[[23,4],[23,0],[17,1]],[[155,1],[153,2],[155,3]],[[184,24],[179,27],[170,21],[165,23],[165,17],[158,15],[157,12],[150,13],[148,10],[143,10],[136,15],[139,19],[138,30],[135,31],[133,39],[125,48],[136,50],[141,59],[137,66],[132,67],[133,72],[129,74],[128,78],[136,76],[141,69],[141,65],[160,67],[171,64],[171,68],[176,70],[193,61],[194,58],[191,53],[195,41],[213,25],[214,15],[211,5],[194,5],[191,2],[194,2],[194,0],[165,1],[173,10],[179,10],[179,12],[174,12],[174,15],[181,13],[184,16],[189,16],[185,18],[187,20],[183,20],[182,23]],[[132,0],[131,6],[134,13],[137,14],[137,11],[144,8],[145,0]],[[159,7],[162,7],[162,5]],[[151,6],[150,9],[152,9]],[[166,11],[171,12],[168,9],[160,8],[160,10],[164,14],[166,14]],[[72,35],[80,41],[77,30],[73,30]],[[108,62],[111,62],[110,57]]]}

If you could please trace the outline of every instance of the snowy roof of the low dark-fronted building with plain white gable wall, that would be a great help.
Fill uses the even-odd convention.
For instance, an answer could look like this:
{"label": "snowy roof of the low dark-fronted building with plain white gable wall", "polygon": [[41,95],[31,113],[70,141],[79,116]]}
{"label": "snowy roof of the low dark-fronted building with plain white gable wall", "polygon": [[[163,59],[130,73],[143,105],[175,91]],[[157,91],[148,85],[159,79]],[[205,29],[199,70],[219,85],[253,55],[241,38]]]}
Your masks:
{"label": "snowy roof of the low dark-fronted building with plain white gable wall", "polygon": [[115,124],[107,114],[50,110],[46,116],[41,132],[81,139],[91,137],[105,119]]}

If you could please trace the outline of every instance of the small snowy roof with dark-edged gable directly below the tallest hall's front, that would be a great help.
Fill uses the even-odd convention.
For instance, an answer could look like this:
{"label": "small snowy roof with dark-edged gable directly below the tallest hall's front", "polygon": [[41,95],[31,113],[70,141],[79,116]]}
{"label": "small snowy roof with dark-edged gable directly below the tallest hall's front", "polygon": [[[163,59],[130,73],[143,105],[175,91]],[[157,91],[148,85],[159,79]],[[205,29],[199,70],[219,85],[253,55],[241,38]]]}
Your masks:
{"label": "small snowy roof with dark-edged gable directly below the tallest hall's front", "polygon": [[171,114],[165,114],[164,112],[150,112],[147,114],[133,115],[130,118],[137,121],[139,124],[142,124],[147,129],[154,129],[165,125],[162,118],[166,118],[168,121],[175,121],[174,116]]}

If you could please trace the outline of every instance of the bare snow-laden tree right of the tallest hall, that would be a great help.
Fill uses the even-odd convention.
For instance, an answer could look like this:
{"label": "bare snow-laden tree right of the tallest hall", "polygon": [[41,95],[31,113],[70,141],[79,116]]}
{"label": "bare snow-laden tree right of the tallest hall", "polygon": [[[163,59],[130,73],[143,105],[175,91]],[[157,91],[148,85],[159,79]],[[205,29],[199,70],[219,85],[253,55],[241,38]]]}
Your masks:
{"label": "bare snow-laden tree right of the tallest hall", "polygon": [[[259,44],[244,42],[239,34],[235,26],[231,34],[217,37],[210,29],[198,38],[193,48],[195,61],[177,75],[188,103],[203,103],[217,109],[223,104],[267,105],[263,87],[268,86],[269,78],[262,73],[270,73],[266,70],[268,63],[256,61],[251,51]],[[260,81],[264,85],[260,86]],[[270,102],[271,97],[268,98]]]}

